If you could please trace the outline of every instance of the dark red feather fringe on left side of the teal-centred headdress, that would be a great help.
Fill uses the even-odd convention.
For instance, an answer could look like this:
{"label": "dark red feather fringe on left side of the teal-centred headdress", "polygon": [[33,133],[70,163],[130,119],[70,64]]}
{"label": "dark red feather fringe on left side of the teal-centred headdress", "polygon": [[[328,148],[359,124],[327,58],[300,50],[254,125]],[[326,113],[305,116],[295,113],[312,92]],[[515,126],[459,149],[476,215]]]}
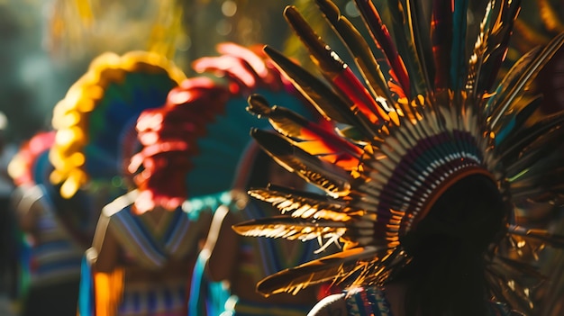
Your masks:
{"label": "dark red feather fringe on left side of the teal-centred headdress", "polygon": [[[186,79],[169,94],[167,103],[158,109],[141,113],[137,122],[142,149],[128,167],[140,195],[135,201],[136,212],[146,212],[161,205],[174,210],[181,205],[190,190],[186,175],[194,168],[192,158],[200,154],[197,140],[206,134],[206,126],[223,105],[229,91],[211,79]],[[195,185],[196,186],[196,185]]]}

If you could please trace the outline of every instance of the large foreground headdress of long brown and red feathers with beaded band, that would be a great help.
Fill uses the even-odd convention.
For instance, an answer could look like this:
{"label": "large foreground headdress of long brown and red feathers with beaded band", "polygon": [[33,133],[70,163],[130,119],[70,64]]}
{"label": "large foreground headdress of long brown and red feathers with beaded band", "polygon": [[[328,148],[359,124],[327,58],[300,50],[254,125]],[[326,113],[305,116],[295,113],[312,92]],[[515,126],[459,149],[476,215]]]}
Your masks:
{"label": "large foreground headdress of long brown and red feathers with beaded band", "polygon": [[[562,193],[564,113],[532,116],[541,95],[528,94],[527,87],[564,34],[528,52],[498,78],[519,1],[489,1],[485,14],[473,15],[483,16],[476,24],[478,38],[468,38],[476,33],[466,18],[468,1],[387,2],[387,25],[372,2],[356,0],[370,43],[331,1],[316,3],[362,79],[293,6],[284,14],[323,79],[277,50],[264,50],[338,132],[323,132],[290,111],[268,107],[259,96],[250,99],[250,107],[259,105],[260,115],[277,130],[253,131],[259,145],[325,194],[278,186],[251,190],[293,218],[250,221],[234,229],[247,236],[340,239],[345,246],[341,253],[267,277],[258,284],[260,293],[296,293],[326,281],[384,284],[410,259],[402,238],[441,194],[468,176],[491,179],[510,205],[550,203]],[[427,3],[432,7],[423,7]],[[374,46],[385,57],[388,74],[380,70]],[[323,146],[305,146],[312,142]],[[529,308],[529,289],[519,282],[524,268],[499,245],[517,248],[527,239],[541,239],[562,246],[562,239],[515,226],[511,207],[499,234],[503,239],[496,239],[487,257],[491,293],[513,307]]]}

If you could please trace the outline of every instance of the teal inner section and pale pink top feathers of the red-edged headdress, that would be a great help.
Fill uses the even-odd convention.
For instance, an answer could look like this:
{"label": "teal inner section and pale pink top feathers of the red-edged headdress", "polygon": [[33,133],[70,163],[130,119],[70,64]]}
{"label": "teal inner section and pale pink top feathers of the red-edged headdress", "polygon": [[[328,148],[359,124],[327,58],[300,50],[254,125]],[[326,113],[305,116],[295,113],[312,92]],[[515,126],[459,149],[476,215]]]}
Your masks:
{"label": "teal inner section and pale pink top feathers of the red-edged headdress", "polygon": [[192,158],[194,167],[186,178],[190,197],[232,189],[237,168],[244,164],[241,154],[250,144],[251,127],[268,126],[268,122],[245,111],[251,91],[259,91],[268,95],[273,104],[314,119],[313,108],[304,106],[303,97],[257,47],[224,42],[217,50],[220,56],[197,59],[193,65],[197,72],[227,88],[229,95],[196,140],[198,153]]}

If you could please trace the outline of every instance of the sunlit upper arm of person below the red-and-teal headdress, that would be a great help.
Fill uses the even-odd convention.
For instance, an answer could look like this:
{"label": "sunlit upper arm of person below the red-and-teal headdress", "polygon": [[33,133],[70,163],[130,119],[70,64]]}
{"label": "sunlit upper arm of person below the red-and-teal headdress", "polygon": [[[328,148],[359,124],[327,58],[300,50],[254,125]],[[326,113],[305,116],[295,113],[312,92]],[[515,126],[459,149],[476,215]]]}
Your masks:
{"label": "sunlit upper arm of person below the red-and-teal headdress", "polygon": [[232,230],[233,213],[220,206],[214,213],[202,254],[207,256],[206,273],[215,281],[230,279],[239,255],[239,236]]}

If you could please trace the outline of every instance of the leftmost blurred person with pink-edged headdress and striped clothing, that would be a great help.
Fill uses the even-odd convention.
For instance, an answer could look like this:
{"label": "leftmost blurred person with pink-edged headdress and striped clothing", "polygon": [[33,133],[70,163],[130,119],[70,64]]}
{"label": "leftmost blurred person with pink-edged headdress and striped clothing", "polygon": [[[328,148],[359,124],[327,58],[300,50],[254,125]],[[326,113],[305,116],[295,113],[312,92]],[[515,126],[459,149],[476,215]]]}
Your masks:
{"label": "leftmost blurred person with pink-edged headdress and striped clothing", "polygon": [[76,315],[80,262],[92,242],[100,210],[90,193],[81,190],[63,199],[59,187],[50,184],[48,154],[54,140],[54,131],[37,133],[8,166],[16,185],[16,217],[30,243],[22,245],[22,249],[30,248],[30,254],[21,256],[20,263],[22,315],[43,315],[45,311]]}

